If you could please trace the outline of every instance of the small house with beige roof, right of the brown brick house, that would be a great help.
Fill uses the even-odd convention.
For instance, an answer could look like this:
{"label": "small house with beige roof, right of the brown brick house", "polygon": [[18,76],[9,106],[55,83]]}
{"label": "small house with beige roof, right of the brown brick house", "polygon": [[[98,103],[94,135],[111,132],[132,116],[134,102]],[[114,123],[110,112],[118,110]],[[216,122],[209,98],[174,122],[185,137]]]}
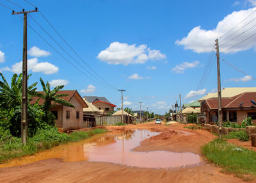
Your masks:
{"label": "small house with beige roof, right of the brown brick house", "polygon": [[96,127],[96,117],[101,117],[103,115],[103,110],[98,109],[92,103],[88,102],[85,98],[83,98],[84,102],[86,102],[87,106],[83,109],[83,120],[84,120],[84,128]]}

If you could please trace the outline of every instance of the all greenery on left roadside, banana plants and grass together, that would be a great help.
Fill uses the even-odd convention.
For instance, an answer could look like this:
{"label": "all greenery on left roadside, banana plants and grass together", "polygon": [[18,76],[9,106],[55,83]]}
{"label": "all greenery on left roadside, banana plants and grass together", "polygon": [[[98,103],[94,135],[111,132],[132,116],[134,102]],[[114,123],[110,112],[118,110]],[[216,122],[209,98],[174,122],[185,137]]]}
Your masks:
{"label": "all greenery on left roadside, banana plants and grass together", "polygon": [[[52,102],[74,106],[60,98],[67,95],[57,95],[63,85],[50,90],[49,82],[45,84],[40,78],[44,93],[36,92],[37,83],[28,86],[28,141],[23,145],[20,138],[22,75],[13,74],[10,84],[3,74],[0,73],[0,77],[0,163],[14,157],[35,154],[61,143],[79,141],[93,134],[106,132],[102,129],[73,132],[70,135],[58,132],[54,115],[50,111]],[[38,100],[31,104],[33,97],[38,97]],[[44,104],[38,105],[39,99],[44,99]]]}

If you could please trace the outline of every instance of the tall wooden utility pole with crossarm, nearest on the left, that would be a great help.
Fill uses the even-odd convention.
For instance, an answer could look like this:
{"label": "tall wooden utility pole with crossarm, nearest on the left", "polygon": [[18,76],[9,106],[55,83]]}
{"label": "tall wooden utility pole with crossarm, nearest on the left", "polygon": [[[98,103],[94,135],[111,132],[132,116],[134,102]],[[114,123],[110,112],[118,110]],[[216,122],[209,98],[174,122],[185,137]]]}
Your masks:
{"label": "tall wooden utility pole with crossarm, nearest on the left", "polygon": [[27,44],[27,15],[28,13],[37,12],[37,8],[33,11],[15,12],[12,15],[23,14],[23,59],[22,59],[22,104],[21,104],[21,142],[27,143],[28,138],[28,44]]}

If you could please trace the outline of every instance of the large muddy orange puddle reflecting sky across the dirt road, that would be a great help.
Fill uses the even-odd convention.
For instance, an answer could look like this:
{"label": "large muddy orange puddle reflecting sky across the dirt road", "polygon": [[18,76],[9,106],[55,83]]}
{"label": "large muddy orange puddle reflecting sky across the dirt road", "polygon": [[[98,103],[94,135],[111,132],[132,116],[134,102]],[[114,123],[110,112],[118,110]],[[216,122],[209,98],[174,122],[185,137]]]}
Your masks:
{"label": "large muddy orange puddle reflecting sky across the dirt road", "polygon": [[108,162],[141,168],[177,168],[200,163],[200,155],[190,152],[176,153],[163,150],[136,152],[132,150],[139,146],[143,139],[157,134],[159,132],[141,129],[99,134],[90,139],[60,145],[36,155],[13,159],[6,164],[0,164],[0,168],[19,166],[51,158],[60,158],[65,162]]}

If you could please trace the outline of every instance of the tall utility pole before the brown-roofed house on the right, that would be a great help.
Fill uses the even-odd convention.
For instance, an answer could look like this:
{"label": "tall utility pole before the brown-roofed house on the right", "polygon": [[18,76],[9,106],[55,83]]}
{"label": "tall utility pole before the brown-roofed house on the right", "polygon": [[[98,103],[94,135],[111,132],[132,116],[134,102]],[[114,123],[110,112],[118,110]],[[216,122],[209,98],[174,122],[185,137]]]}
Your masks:
{"label": "tall utility pole before the brown-roofed house on the right", "polygon": [[222,138],[221,84],[220,84],[220,50],[219,40],[216,39],[217,73],[218,73],[218,136]]}

